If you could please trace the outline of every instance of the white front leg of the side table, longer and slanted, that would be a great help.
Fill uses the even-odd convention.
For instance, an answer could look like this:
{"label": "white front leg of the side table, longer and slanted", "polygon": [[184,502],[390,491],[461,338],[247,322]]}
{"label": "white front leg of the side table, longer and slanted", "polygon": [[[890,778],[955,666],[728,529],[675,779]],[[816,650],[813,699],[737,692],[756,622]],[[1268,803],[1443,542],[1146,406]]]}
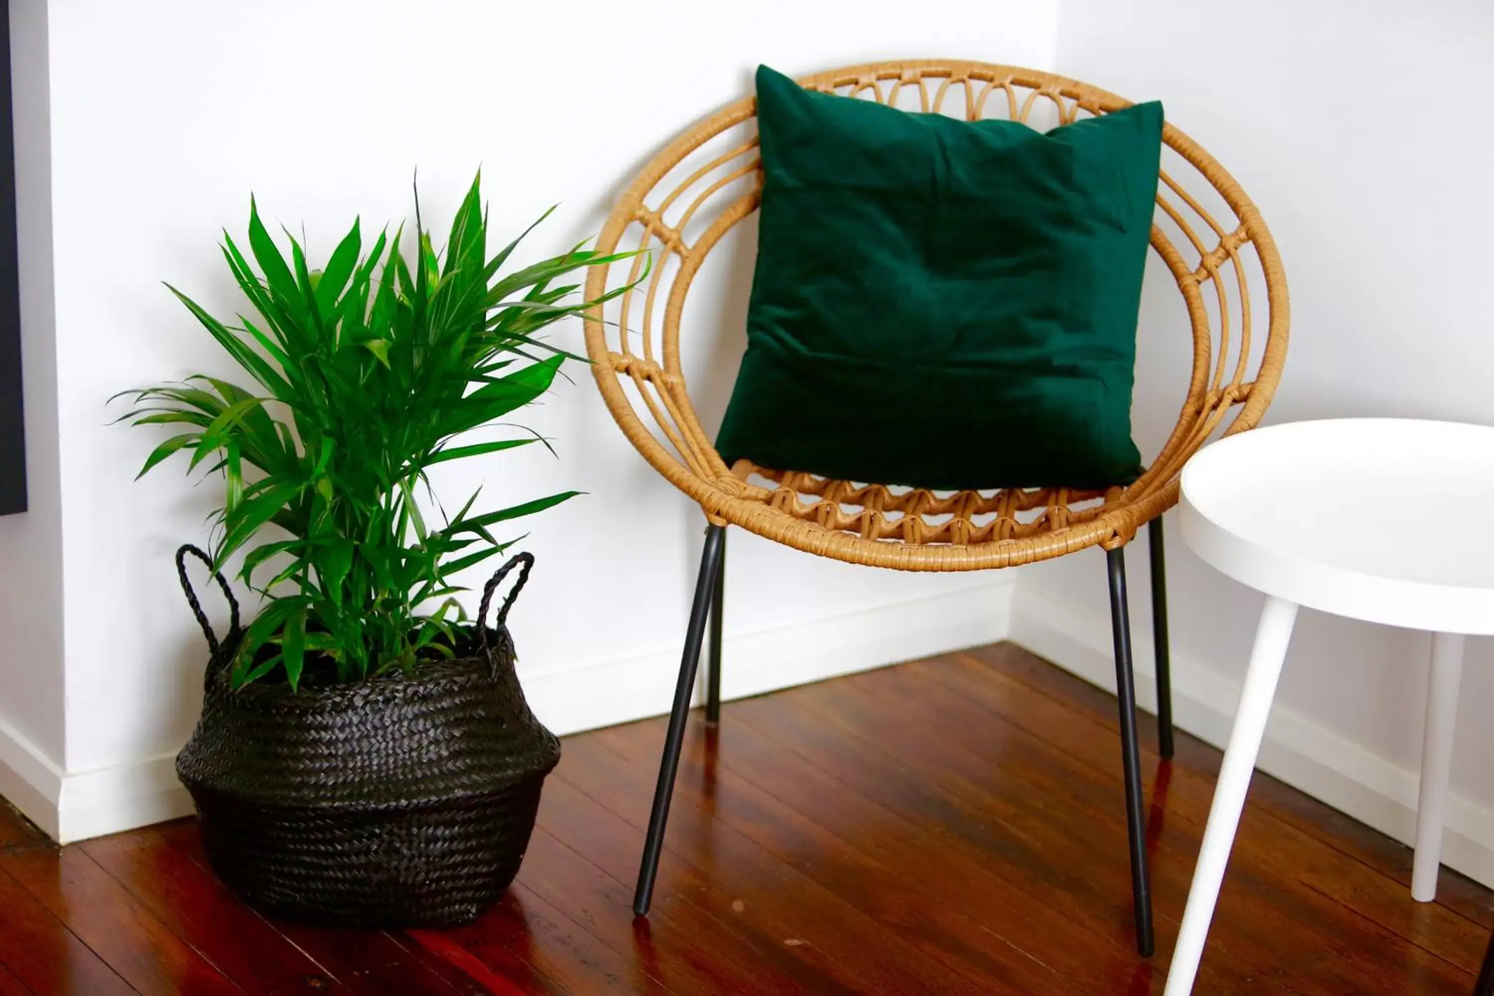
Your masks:
{"label": "white front leg of the side table, longer and slanted", "polygon": [[1250,667],[1245,673],[1245,688],[1240,690],[1240,706],[1234,714],[1234,729],[1230,730],[1230,747],[1224,753],[1213,805],[1209,808],[1204,842],[1194,866],[1194,884],[1188,888],[1188,906],[1177,932],[1177,947],[1173,948],[1165,996],[1188,996],[1194,990],[1194,977],[1198,975],[1198,962],[1209,938],[1209,921],[1213,920],[1224,869],[1230,863],[1234,830],[1245,808],[1245,793],[1250,788],[1255,756],[1261,750],[1265,720],[1271,714],[1271,699],[1276,697],[1276,679],[1282,675],[1295,621],[1295,603],[1274,596],[1265,599],[1261,624],[1255,630]]}

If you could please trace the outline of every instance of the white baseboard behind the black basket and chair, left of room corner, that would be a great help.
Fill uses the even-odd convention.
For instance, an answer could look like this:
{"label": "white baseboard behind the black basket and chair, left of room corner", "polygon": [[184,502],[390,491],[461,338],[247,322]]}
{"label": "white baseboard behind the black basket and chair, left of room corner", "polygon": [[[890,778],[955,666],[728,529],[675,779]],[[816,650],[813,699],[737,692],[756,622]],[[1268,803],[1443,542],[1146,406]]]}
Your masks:
{"label": "white baseboard behind the black basket and chair, left of room corner", "polygon": [[[929,654],[1005,639],[1014,578],[756,633],[728,633],[722,696],[740,699]],[[681,635],[683,638],[683,635]],[[578,733],[669,711],[680,647],[530,675],[524,694],[556,733]],[[175,753],[66,774],[0,723],[0,796],[69,844],[193,811]]]}

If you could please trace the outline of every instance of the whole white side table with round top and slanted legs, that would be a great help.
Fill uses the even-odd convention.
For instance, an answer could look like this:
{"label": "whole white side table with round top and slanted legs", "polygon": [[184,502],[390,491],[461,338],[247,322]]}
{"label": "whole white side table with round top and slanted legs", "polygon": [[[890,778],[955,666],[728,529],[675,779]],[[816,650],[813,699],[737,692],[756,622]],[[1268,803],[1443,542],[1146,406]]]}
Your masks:
{"label": "whole white side table with round top and slanted legs", "polygon": [[1466,633],[1494,633],[1494,429],[1342,418],[1230,436],[1183,469],[1183,542],[1267,594],[1165,996],[1192,990],[1297,606],[1436,633],[1412,896],[1437,891],[1442,809]]}

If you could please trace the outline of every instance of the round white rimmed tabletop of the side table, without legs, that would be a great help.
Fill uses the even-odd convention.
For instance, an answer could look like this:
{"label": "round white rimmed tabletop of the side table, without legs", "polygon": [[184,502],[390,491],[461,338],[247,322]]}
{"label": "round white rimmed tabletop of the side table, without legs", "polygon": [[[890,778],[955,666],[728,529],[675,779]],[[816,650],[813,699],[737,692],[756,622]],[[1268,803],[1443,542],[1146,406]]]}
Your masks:
{"label": "round white rimmed tabletop of the side table, without legs", "polygon": [[1183,469],[1179,521],[1203,560],[1267,594],[1494,633],[1494,427],[1336,418],[1230,436]]}

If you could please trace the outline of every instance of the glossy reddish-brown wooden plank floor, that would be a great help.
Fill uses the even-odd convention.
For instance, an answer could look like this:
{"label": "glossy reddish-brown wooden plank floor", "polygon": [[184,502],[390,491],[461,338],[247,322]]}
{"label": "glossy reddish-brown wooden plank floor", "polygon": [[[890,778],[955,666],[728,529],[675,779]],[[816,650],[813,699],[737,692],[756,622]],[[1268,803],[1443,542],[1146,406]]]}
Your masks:
{"label": "glossy reddish-brown wooden plank floor", "polygon": [[[698,717],[654,912],[629,909],[662,721],[569,738],[481,921],[269,923],[190,821],[58,851],[0,808],[10,993],[1159,993],[1219,753],[1149,745],[1156,956],[1135,956],[1115,699],[1010,645]],[[1258,775],[1198,993],[1469,993],[1494,896]]]}

